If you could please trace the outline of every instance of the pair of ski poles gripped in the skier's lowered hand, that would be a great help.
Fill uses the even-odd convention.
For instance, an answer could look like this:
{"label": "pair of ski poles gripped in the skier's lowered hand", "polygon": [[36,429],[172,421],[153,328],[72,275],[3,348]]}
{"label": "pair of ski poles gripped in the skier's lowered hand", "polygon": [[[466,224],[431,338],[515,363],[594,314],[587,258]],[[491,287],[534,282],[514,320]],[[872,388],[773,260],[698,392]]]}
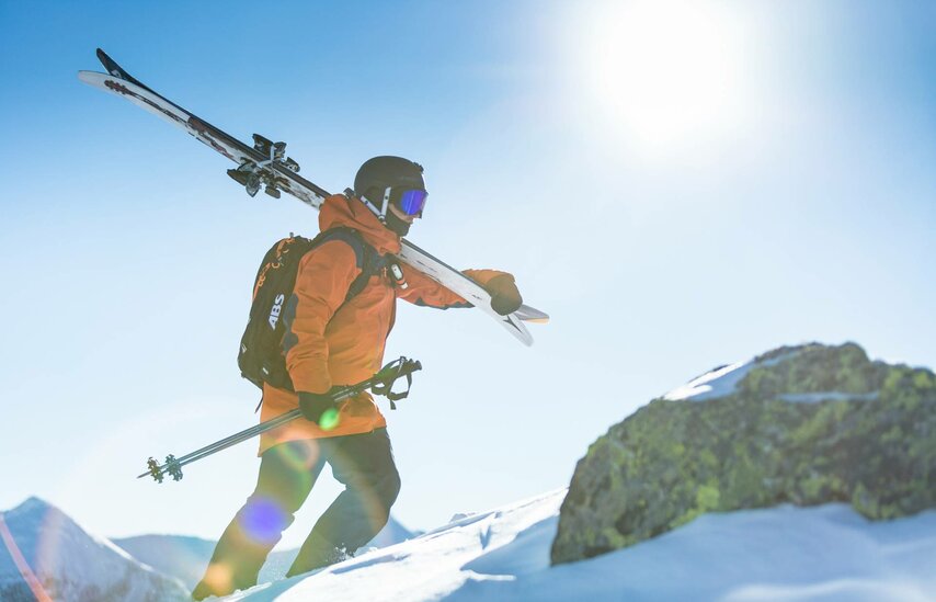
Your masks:
{"label": "pair of ski poles gripped in the skier's lowered hand", "polygon": [[[404,399],[409,395],[410,387],[413,382],[412,374],[420,370],[422,370],[422,364],[420,364],[420,362],[401,356],[399,360],[393,360],[385,365],[380,368],[380,372],[370,378],[362,380],[356,385],[349,385],[332,393],[331,399],[334,402],[339,402],[370,389],[375,395],[383,395],[387,397],[387,399],[390,400],[390,407],[396,409],[397,406],[395,402],[400,399]],[[407,390],[402,393],[393,393],[393,384],[400,378],[407,379]],[[260,424],[255,424],[249,429],[244,429],[243,431],[237,432],[230,436],[209,443],[208,445],[205,445],[199,450],[195,450],[190,454],[185,454],[184,456],[175,457],[174,455],[169,454],[165,456],[165,463],[162,465],[150,457],[146,463],[147,472],[137,476],[137,478],[139,479],[146,476],[151,476],[157,482],[162,482],[165,475],[169,475],[173,480],[181,480],[182,466],[202,459],[203,457],[207,457],[220,452],[221,450],[227,450],[228,447],[237,445],[238,443],[249,439],[253,439],[261,433],[265,433],[266,431],[282,427],[287,422],[292,422],[297,418],[301,418],[301,416],[303,411],[297,408],[275,418],[271,418]]]}

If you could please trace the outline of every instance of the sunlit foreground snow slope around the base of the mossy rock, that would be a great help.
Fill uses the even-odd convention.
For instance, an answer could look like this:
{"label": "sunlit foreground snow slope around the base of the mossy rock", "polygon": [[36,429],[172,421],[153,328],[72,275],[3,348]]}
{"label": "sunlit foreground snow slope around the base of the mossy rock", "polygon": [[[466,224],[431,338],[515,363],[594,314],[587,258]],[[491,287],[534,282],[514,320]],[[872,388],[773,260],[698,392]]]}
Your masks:
{"label": "sunlit foreground snow slope around the base of the mossy rock", "polygon": [[550,567],[564,493],[457,515],[415,539],[228,600],[936,600],[936,511],[883,523],[846,504],[708,514]]}

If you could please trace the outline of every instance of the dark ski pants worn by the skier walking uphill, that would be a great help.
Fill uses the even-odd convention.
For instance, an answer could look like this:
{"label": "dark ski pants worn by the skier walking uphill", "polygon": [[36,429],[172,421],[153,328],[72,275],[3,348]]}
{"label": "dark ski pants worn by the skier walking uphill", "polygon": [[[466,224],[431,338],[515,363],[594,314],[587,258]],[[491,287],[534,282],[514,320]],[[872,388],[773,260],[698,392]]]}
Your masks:
{"label": "dark ski pants worn by the skier walking uphill", "polygon": [[[326,566],[336,549],[352,554],[369,542],[400,491],[387,429],[281,443],[263,453],[256,488],[221,535],[203,583],[221,593],[254,586],[326,463],[344,491],[319,518],[287,575]],[[225,581],[229,587],[219,588]]]}

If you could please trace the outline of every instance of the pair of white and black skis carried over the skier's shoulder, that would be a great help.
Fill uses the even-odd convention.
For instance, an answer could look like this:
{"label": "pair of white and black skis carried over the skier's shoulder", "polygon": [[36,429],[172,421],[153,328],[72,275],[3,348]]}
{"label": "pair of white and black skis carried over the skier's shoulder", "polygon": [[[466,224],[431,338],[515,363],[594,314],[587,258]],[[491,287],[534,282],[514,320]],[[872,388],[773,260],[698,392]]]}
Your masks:
{"label": "pair of white and black skis carried over the skier's shoulder", "polygon": [[[81,81],[127,99],[236,162],[238,167],[228,170],[228,174],[243,185],[251,196],[263,190],[270,196],[278,198],[281,193],[285,192],[316,209],[329,196],[324,189],[298,174],[299,164],[286,157],[285,143],[274,143],[254,134],[253,146],[248,146],[155,92],[100,48],[98,58],[107,72],[79,71],[78,78]],[[526,345],[533,344],[533,337],[524,321],[549,320],[548,315],[528,305],[521,306],[513,314],[499,315],[491,307],[490,294],[477,282],[407,239],[402,240],[399,259],[480,308]]]}

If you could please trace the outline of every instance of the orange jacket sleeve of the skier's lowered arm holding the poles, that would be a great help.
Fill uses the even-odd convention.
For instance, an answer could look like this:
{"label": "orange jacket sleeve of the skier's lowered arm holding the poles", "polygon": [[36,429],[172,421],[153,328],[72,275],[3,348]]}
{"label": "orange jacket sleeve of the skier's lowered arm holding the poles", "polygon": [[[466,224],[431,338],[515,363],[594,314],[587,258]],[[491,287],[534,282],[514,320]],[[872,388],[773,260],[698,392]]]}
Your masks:
{"label": "orange jacket sleeve of the skier's lowered arm holding the poles", "polygon": [[326,327],[359,273],[354,249],[340,240],[312,249],[299,262],[296,287],[283,315],[283,352],[297,391],[326,393],[331,388]]}

